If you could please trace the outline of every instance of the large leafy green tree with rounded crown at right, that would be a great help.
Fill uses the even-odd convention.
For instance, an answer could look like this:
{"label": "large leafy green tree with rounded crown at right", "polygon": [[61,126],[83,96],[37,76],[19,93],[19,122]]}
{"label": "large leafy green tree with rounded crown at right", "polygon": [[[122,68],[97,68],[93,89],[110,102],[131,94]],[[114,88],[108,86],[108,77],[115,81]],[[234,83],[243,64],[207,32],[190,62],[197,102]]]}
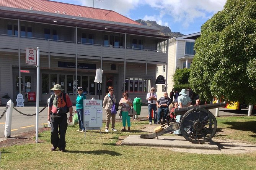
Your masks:
{"label": "large leafy green tree with rounded crown at right", "polygon": [[194,48],[189,83],[201,98],[256,103],[255,0],[227,0]]}

